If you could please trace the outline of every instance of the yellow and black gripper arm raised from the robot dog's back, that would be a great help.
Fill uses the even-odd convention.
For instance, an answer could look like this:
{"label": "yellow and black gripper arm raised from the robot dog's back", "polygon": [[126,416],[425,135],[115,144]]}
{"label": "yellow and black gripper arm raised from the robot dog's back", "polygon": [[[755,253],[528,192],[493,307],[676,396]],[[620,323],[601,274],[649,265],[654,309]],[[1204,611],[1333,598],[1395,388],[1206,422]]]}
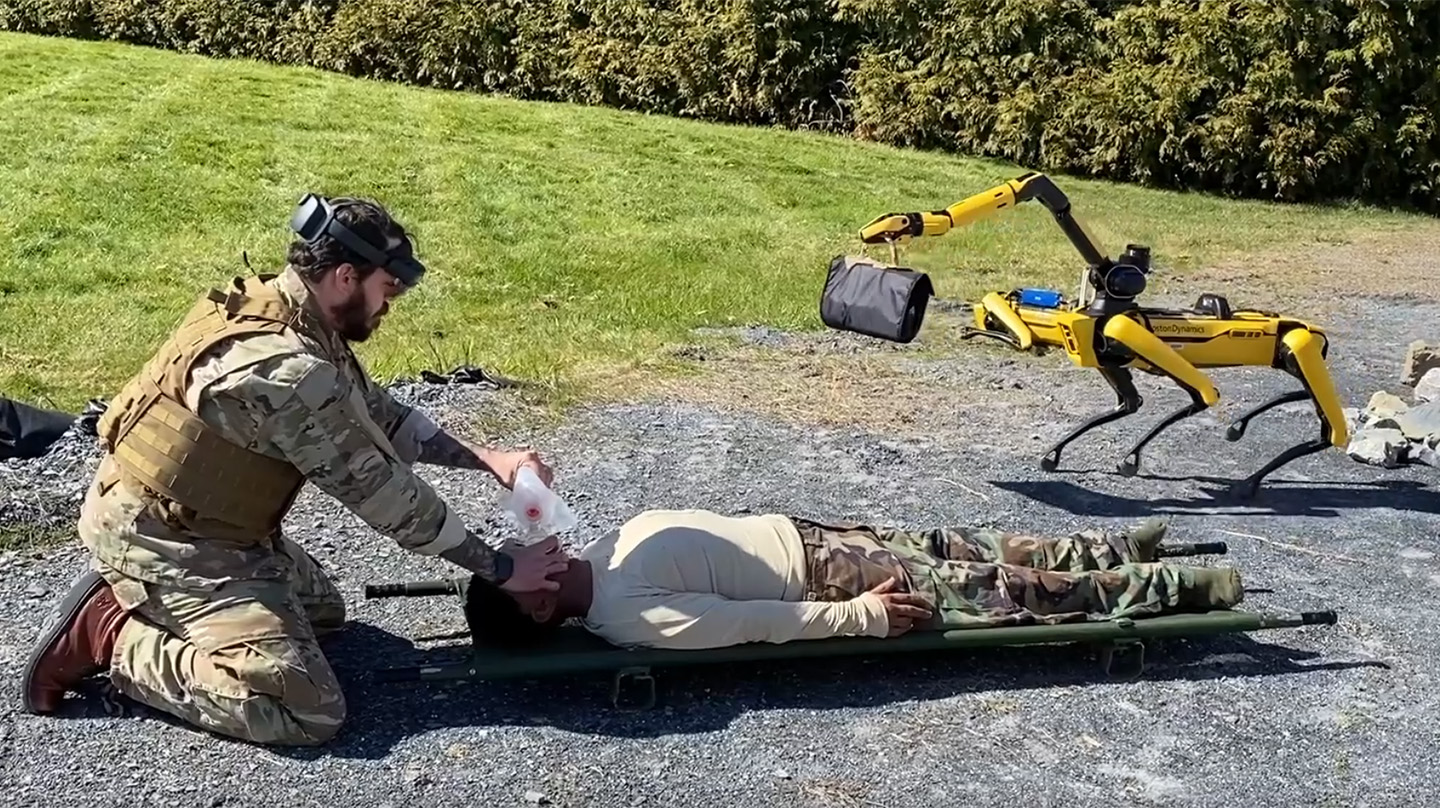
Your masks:
{"label": "yellow and black gripper arm raised from the robot dog's back", "polygon": [[1064,192],[1050,177],[1035,171],[982,190],[943,210],[877,216],[860,229],[860,239],[865,243],[904,243],[914,236],[942,236],[952,228],[979,222],[1031,199],[1038,199],[1040,205],[1050,210],[1056,223],[1064,230],[1070,243],[1080,251],[1090,269],[1104,269],[1110,264],[1110,259],[1100,252],[1100,248],[1070,215],[1070,199],[1066,197]]}

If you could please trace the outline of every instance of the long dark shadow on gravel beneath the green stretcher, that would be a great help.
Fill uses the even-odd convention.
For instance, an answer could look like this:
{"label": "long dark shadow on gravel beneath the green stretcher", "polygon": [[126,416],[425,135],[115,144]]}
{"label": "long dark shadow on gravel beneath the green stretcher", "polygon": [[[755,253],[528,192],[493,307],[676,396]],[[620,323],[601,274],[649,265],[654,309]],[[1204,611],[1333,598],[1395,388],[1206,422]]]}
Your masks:
{"label": "long dark shadow on gravel beneath the green stretcher", "polygon": [[[451,661],[462,647],[416,651],[400,637],[353,624],[328,647],[346,687],[347,726],[323,749],[274,749],[297,759],[382,759],[410,737],[444,727],[544,726],[609,737],[655,737],[721,730],[757,710],[838,710],[924,701],[965,693],[1048,687],[1140,687],[1146,683],[1269,677],[1380,667],[1382,663],[1312,663],[1315,652],[1259,642],[1248,635],[1152,641],[1133,684],[1112,680],[1084,647],[958,650],[945,655],[899,654],[657,670],[658,701],[648,712],[611,706],[609,675],[454,683],[379,683],[377,667]],[[423,657],[423,658],[416,658]]]}

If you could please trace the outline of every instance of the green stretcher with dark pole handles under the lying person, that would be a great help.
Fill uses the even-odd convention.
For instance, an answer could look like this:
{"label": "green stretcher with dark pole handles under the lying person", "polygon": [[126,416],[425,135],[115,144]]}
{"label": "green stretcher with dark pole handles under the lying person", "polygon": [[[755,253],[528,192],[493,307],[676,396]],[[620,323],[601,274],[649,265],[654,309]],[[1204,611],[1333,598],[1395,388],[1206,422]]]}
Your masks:
{"label": "green stretcher with dark pole handles under the lying person", "polygon": [[[1225,549],[1224,543],[1174,544],[1164,547],[1162,555],[1224,553]],[[379,583],[366,586],[366,598],[454,595],[464,599],[465,588],[467,579]],[[376,678],[379,681],[504,680],[611,673],[613,675],[612,706],[619,707],[624,700],[622,693],[628,686],[634,686],[639,687],[641,691],[639,709],[649,709],[655,704],[654,670],[657,668],[818,657],[871,657],[999,645],[1094,644],[1099,647],[1100,663],[1106,674],[1112,677],[1116,675],[1116,658],[1133,655],[1135,670],[1126,678],[1135,680],[1145,667],[1145,639],[1335,625],[1336,619],[1333,611],[1247,612],[1217,609],[1057,625],[916,631],[894,638],[844,637],[782,644],[747,642],[694,651],[621,648],[595,637],[582,627],[567,625],[557,631],[552,641],[540,647],[524,651],[472,647],[468,658],[462,661],[380,668],[376,671]]]}

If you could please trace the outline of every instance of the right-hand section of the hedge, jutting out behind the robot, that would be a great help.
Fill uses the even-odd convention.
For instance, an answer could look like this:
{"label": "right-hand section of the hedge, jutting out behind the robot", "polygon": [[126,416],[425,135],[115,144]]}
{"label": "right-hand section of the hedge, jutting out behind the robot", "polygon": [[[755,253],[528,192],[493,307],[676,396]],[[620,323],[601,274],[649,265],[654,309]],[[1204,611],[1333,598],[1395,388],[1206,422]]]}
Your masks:
{"label": "right-hand section of the hedge, jutting out behind the robot", "polygon": [[854,76],[864,137],[1166,187],[1437,210],[1431,0],[847,7],[867,30]]}

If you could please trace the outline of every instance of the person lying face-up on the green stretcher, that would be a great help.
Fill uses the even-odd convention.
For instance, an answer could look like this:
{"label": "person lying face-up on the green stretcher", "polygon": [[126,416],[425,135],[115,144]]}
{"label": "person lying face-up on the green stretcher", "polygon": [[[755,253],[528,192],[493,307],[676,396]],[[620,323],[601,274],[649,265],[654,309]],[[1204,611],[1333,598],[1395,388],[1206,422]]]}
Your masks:
{"label": "person lying face-up on the green stretcher", "polygon": [[1158,562],[1165,526],[1034,537],[992,529],[900,530],[782,514],[649,510],[554,576],[511,593],[472,580],[478,645],[523,647],[579,618],[621,647],[720,648],[829,637],[899,637],[1225,609],[1230,567]]}

